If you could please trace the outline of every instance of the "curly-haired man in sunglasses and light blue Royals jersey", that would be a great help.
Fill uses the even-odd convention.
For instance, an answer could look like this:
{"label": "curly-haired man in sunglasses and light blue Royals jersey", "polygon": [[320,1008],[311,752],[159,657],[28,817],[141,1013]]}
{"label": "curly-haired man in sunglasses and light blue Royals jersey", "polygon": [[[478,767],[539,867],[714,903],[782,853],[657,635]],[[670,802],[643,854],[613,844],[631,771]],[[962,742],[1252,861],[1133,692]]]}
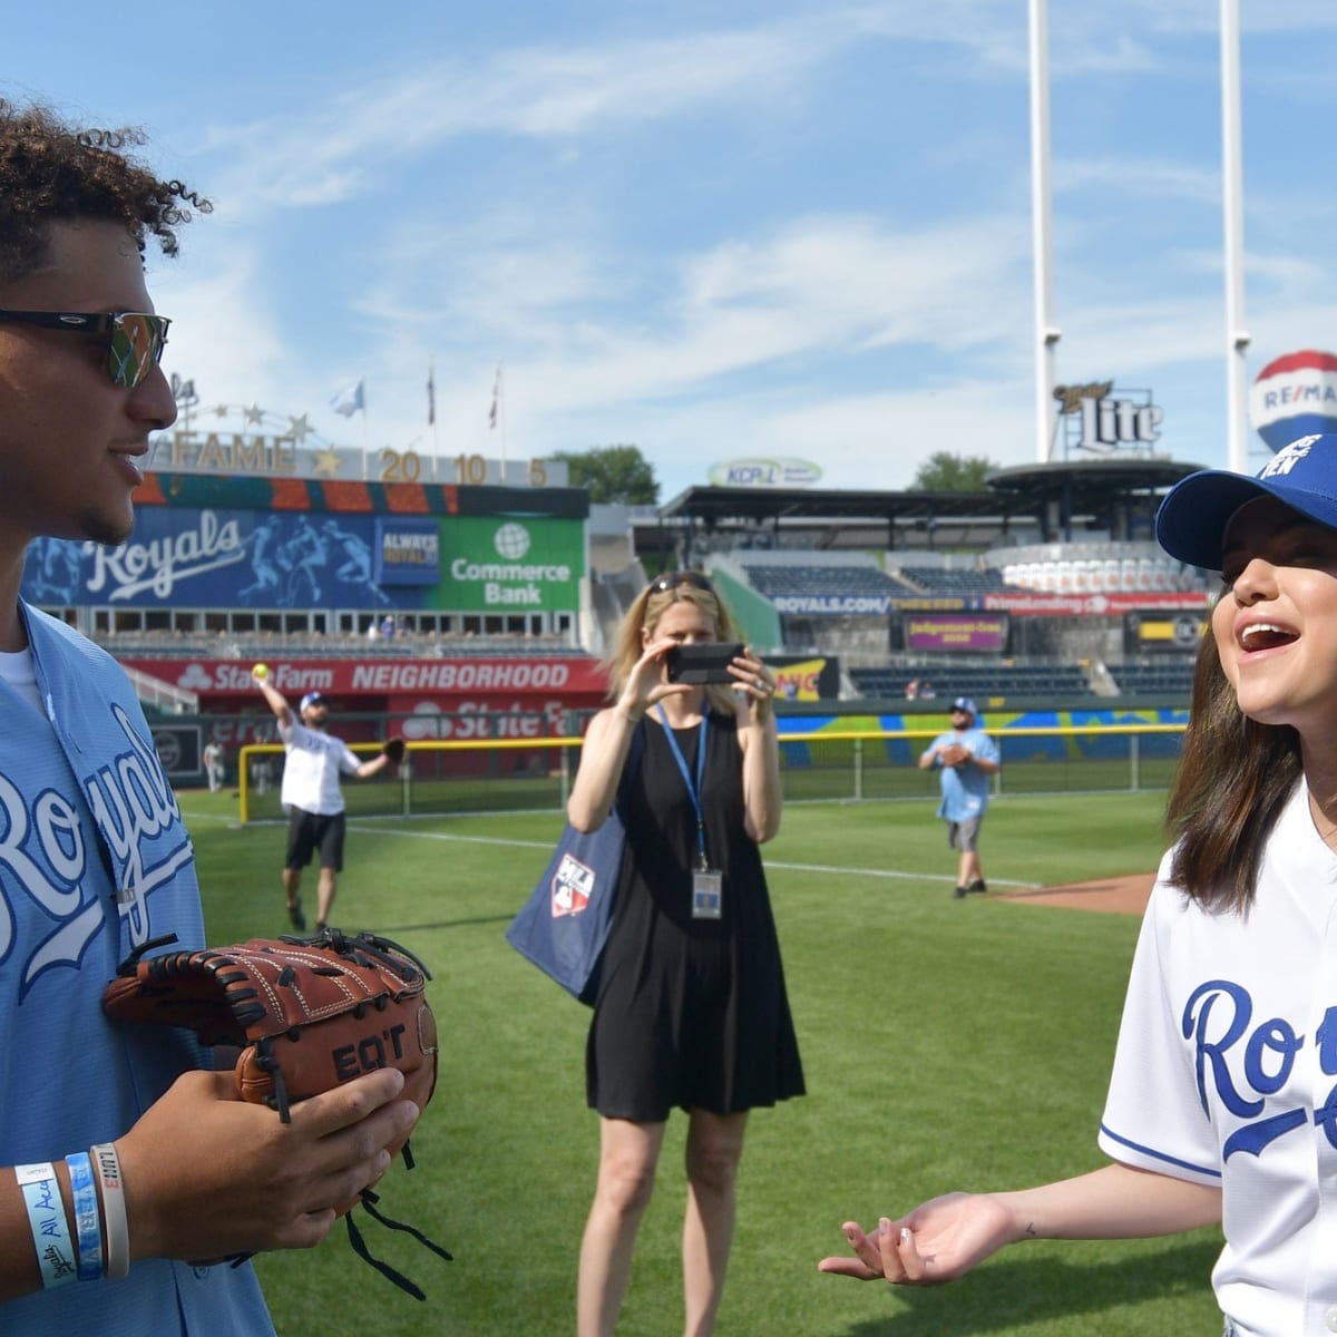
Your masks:
{"label": "curly-haired man in sunglasses and light blue Royals jersey", "polygon": [[127,957],[205,945],[194,854],[124,673],[19,583],[40,536],[130,535],[176,416],[143,253],[209,205],[142,142],[0,100],[0,1330],[255,1337],[223,1261],[322,1239],[418,1111],[385,1068],[285,1124],[102,1012]]}

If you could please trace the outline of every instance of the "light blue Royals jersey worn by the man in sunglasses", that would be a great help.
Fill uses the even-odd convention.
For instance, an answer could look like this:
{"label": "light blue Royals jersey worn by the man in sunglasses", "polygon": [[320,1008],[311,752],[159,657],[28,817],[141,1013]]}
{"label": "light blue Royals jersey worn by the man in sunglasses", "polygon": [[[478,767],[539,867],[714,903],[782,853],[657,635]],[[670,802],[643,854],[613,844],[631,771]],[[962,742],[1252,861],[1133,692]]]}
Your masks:
{"label": "light blue Royals jersey worn by the man in sunglasses", "polygon": [[[21,612],[43,710],[0,682],[3,1166],[114,1140],[180,1072],[209,1066],[185,1032],[103,1016],[103,989],[134,948],[170,933],[159,951],[205,945],[194,849],[122,668],[63,623]],[[150,1259],[122,1281],[0,1304],[0,1334],[273,1330],[250,1266]]]}

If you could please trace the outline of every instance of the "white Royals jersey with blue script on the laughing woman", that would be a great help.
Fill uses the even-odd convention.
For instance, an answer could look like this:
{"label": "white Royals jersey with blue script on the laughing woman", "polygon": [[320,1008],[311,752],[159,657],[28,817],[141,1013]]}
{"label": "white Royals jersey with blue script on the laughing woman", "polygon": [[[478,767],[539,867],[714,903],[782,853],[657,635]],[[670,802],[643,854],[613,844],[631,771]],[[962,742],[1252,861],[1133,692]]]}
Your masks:
{"label": "white Royals jersey with blue script on the laughing woman", "polygon": [[1304,783],[1246,916],[1166,881],[1142,925],[1100,1147],[1222,1189],[1213,1270],[1239,1337],[1337,1332],[1337,856]]}

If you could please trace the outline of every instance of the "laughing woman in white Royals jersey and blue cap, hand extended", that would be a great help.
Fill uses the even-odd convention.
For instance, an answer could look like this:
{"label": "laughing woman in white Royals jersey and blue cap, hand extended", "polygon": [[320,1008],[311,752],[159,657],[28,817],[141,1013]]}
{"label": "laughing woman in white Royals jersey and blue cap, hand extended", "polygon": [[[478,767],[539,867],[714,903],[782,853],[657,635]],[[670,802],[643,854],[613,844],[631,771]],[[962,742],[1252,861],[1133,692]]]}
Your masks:
{"label": "laughing woman in white Royals jersey and blue cap, hand extended", "polygon": [[1337,436],[1194,473],[1157,536],[1223,587],[1194,678],[1099,1144],[1062,1183],[948,1194],[824,1271],[951,1281],[1027,1238],[1221,1222],[1231,1337],[1337,1332]]}

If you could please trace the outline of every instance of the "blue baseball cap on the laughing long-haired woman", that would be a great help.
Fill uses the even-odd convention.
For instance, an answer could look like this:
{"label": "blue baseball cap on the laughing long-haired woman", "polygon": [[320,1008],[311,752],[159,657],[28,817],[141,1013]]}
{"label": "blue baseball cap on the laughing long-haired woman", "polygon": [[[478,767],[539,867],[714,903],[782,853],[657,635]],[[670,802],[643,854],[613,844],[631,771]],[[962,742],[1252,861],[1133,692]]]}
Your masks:
{"label": "blue baseball cap on the laughing long-haired woman", "polygon": [[1171,558],[1219,571],[1230,517],[1263,496],[1337,529],[1337,435],[1292,441],[1253,477],[1202,469],[1181,479],[1157,512],[1157,540]]}

